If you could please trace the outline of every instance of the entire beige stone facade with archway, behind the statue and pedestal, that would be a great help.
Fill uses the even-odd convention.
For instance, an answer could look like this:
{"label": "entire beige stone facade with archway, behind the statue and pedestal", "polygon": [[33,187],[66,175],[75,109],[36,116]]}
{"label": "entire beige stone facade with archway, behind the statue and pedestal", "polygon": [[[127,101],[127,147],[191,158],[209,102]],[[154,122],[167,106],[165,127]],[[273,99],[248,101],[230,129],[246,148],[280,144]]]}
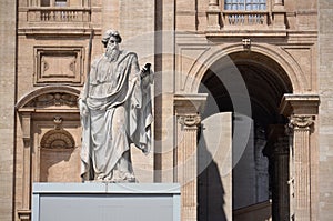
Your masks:
{"label": "entire beige stone facade with archway, behind the statue and pedestal", "polygon": [[32,182],[80,182],[77,98],[110,28],[153,64],[133,164],[182,184],[182,220],[333,220],[333,3],[259,2],[3,2],[0,220],[30,220]]}

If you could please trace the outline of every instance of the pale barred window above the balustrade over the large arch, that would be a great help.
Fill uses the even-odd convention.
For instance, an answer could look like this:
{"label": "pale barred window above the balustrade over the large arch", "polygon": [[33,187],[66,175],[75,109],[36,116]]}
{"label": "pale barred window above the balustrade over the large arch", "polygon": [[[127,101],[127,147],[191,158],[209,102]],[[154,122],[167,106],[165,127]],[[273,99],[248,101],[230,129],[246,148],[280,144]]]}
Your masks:
{"label": "pale barred window above the balustrade over the large arch", "polygon": [[265,10],[266,0],[224,0],[224,9],[233,11]]}

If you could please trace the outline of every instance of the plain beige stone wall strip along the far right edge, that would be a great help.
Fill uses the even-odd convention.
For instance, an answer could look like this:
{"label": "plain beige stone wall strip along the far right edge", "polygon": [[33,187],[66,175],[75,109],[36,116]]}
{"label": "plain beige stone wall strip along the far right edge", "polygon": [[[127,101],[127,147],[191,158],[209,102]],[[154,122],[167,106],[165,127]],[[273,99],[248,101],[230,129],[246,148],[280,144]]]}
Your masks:
{"label": "plain beige stone wall strip along the far right edge", "polygon": [[319,1],[320,178],[319,220],[333,220],[333,1]]}

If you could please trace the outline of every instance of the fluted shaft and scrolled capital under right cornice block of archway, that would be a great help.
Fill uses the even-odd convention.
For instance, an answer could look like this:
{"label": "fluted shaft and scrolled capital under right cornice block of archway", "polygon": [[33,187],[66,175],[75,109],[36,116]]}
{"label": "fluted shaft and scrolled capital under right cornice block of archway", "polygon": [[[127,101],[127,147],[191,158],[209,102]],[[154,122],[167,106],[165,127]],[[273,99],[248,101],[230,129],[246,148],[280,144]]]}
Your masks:
{"label": "fluted shaft and scrolled capital under right cornice block of archway", "polygon": [[311,149],[310,134],[313,125],[311,115],[292,115],[294,148],[294,209],[295,220],[311,220]]}

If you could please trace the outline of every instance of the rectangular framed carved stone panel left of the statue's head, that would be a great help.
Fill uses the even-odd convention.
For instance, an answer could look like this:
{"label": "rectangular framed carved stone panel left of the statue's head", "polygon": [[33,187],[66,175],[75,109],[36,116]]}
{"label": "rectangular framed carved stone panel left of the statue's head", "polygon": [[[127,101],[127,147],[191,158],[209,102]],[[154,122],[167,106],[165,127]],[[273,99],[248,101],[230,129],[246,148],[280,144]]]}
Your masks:
{"label": "rectangular framed carved stone panel left of the statue's head", "polygon": [[83,47],[36,47],[34,83],[82,84]]}

